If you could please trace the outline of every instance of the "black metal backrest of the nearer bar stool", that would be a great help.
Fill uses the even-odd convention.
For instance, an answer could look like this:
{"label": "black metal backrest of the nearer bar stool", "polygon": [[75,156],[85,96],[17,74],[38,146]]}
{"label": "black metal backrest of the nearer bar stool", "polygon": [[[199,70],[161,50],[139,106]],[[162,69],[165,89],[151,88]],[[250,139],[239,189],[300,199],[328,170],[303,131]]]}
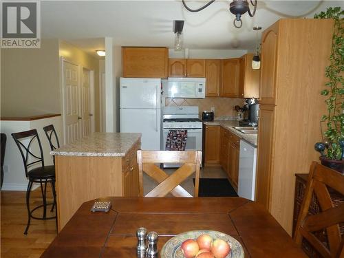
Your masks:
{"label": "black metal backrest of the nearer bar stool", "polygon": [[[28,169],[30,166],[34,164],[41,163],[41,166],[44,166],[44,157],[43,157],[43,149],[41,145],[41,140],[39,140],[39,134],[37,133],[36,129],[32,129],[29,131],[21,131],[19,133],[11,133],[14,142],[16,142],[19,151],[21,152],[21,158],[23,158],[25,175],[28,177]],[[25,144],[25,141],[28,141],[28,144]],[[32,150],[32,144],[34,142],[38,142],[39,144],[39,154],[35,154]]]}

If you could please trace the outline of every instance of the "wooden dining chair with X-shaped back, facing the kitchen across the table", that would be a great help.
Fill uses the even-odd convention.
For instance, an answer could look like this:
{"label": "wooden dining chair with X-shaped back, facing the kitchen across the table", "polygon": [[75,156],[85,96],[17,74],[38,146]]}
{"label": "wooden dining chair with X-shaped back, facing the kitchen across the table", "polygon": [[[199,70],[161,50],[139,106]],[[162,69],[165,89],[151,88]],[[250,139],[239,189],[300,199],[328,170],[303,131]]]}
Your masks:
{"label": "wooden dining chair with X-shaped back, facing the kitchen across the table", "polygon": [[[140,196],[143,197],[143,172],[149,175],[155,186],[145,197],[164,197],[171,193],[175,197],[198,197],[200,183],[200,163],[202,151],[138,151],[138,171]],[[179,163],[179,169],[168,175],[156,164]],[[192,196],[179,184],[195,172],[195,192]]]}

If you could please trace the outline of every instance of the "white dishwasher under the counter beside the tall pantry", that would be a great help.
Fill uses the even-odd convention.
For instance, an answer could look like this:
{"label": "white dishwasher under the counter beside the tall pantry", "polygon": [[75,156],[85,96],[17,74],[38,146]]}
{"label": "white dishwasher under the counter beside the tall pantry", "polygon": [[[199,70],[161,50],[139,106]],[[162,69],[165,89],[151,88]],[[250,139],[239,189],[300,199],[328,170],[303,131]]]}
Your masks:
{"label": "white dishwasher under the counter beside the tall pantry", "polygon": [[255,200],[257,148],[240,141],[238,195]]}

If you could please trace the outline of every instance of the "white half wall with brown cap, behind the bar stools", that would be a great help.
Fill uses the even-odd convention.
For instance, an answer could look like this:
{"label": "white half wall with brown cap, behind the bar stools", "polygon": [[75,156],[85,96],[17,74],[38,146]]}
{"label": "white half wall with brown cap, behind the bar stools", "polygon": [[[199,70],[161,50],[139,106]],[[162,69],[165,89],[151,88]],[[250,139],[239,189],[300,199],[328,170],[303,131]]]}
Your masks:
{"label": "white half wall with brown cap, behind the bar stools", "polygon": [[[30,129],[37,129],[39,133],[39,139],[41,140],[44,156],[44,164],[52,165],[52,155],[50,155],[50,144],[47,140],[47,136],[43,131],[45,125],[54,125],[58,139],[62,138],[62,121],[61,116],[55,116],[53,118],[43,118],[32,121],[1,121],[1,133],[6,133],[6,151],[5,160],[3,164],[3,191],[26,191],[28,187],[28,179],[25,177],[25,171],[23,166],[23,160],[21,154],[15,144],[11,133],[19,131],[27,131]],[[36,142],[33,142],[32,150],[38,151]],[[61,143],[61,142],[60,142]],[[36,148],[37,147],[37,148]]]}

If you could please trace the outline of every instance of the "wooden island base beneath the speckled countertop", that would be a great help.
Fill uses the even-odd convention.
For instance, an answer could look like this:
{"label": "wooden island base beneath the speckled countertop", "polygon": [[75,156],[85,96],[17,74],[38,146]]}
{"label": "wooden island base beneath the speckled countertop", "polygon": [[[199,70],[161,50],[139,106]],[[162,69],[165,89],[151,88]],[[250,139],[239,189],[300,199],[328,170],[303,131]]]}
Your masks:
{"label": "wooden island base beneath the speckled countertop", "polygon": [[58,232],[83,202],[106,196],[138,197],[136,152],[125,157],[55,156]]}

